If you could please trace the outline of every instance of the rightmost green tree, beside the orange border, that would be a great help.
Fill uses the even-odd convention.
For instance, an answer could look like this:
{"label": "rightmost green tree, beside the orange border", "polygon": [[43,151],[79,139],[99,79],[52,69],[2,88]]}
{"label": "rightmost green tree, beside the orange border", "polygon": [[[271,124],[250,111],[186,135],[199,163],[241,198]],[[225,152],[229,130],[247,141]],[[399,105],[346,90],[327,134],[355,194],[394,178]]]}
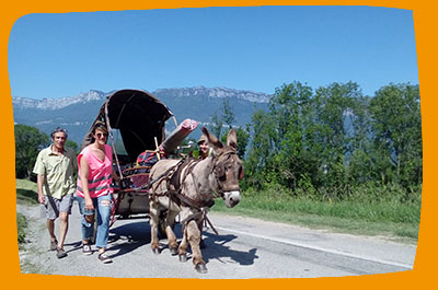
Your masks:
{"label": "rightmost green tree, beside the orange border", "polygon": [[379,169],[384,182],[408,188],[423,181],[423,142],[419,88],[390,84],[381,88],[370,103],[374,148],[385,161]]}

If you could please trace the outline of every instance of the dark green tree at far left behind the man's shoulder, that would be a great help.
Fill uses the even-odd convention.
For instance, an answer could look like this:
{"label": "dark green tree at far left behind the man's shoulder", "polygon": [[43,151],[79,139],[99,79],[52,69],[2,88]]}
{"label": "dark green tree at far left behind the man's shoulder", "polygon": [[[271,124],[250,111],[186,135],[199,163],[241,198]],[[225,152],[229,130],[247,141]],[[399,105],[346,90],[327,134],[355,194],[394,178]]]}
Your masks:
{"label": "dark green tree at far left behind the man's shoulder", "polygon": [[48,136],[37,128],[15,125],[15,177],[25,178],[31,175],[39,150],[50,142]]}

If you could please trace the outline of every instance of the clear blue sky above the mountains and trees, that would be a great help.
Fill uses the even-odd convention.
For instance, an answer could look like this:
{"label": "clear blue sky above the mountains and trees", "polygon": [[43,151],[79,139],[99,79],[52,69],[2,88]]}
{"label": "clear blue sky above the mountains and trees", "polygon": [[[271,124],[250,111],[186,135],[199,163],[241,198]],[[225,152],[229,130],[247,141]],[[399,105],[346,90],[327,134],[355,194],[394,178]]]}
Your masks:
{"label": "clear blue sky above the mountains and trees", "polygon": [[413,13],[371,7],[184,8],[28,14],[10,34],[13,96],[227,86],[274,93],[418,83]]}

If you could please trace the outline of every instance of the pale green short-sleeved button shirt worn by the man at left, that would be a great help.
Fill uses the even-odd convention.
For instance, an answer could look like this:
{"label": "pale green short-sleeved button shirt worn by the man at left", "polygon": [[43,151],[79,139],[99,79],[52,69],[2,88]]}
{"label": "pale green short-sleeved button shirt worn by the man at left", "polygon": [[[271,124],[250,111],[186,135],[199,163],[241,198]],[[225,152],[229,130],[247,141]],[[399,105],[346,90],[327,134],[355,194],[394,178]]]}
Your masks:
{"label": "pale green short-sleeved button shirt worn by the man at left", "polygon": [[51,150],[51,146],[39,151],[34,173],[44,175],[43,193],[60,199],[76,192],[74,172],[78,161],[74,150],[65,148],[62,154]]}

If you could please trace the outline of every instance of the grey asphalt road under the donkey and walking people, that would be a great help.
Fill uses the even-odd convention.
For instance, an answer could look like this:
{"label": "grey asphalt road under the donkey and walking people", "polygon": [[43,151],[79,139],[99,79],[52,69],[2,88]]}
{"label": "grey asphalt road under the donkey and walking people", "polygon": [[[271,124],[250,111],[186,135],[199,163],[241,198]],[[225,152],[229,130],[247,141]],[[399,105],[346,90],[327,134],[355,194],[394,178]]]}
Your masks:
{"label": "grey asphalt road under the donkey and walking people", "polygon": [[[150,250],[149,221],[118,220],[110,232],[112,264],[80,247],[80,216],[74,204],[67,235],[68,256],[48,251],[45,219],[38,207],[18,206],[30,219],[28,242],[20,251],[22,272],[124,278],[309,278],[412,270],[416,245],[383,239],[336,234],[256,219],[209,213],[219,235],[205,230],[203,250],[208,272],[198,274],[191,259],[180,263],[163,243],[161,255]],[[181,227],[176,225],[181,239]]]}

